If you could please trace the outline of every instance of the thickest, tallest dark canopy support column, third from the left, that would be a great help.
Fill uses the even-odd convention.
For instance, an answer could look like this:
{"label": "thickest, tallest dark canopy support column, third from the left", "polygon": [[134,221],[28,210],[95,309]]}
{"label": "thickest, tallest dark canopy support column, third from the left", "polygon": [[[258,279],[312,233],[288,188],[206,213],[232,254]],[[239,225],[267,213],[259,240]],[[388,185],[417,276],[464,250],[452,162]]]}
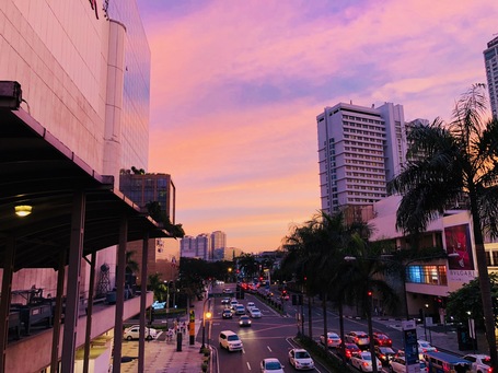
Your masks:
{"label": "thickest, tallest dark canopy support column, third from the left", "polygon": [[80,301],[80,269],[83,256],[85,194],[74,194],[71,217],[71,242],[69,245],[68,285],[66,291],[66,312],[63,320],[63,343],[61,371],[74,372],[74,352]]}

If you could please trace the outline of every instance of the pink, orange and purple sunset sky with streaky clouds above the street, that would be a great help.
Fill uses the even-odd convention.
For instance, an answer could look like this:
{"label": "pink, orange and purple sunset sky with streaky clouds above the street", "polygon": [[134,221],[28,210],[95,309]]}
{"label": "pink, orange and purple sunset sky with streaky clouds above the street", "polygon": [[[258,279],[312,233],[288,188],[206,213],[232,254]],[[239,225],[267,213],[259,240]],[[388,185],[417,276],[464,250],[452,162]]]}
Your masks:
{"label": "pink, orange and purple sunset sky with streaky clouds above the street", "polygon": [[450,119],[486,82],[496,0],[138,0],[152,54],[151,173],[186,234],[273,250],[320,209],[316,115],[339,102]]}

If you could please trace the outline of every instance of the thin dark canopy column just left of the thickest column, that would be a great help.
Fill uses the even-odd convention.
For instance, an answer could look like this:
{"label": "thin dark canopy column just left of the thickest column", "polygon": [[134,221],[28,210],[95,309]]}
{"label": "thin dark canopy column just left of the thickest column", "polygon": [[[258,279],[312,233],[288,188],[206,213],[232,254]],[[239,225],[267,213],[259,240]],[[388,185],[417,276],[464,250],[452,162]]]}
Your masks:
{"label": "thin dark canopy column just left of the thickest column", "polygon": [[66,260],[68,250],[63,249],[59,256],[59,269],[57,270],[57,294],[56,306],[54,310],[54,330],[51,335],[51,359],[50,372],[59,372],[59,348],[60,348],[60,324],[62,324],[62,296],[63,279],[66,276]]}

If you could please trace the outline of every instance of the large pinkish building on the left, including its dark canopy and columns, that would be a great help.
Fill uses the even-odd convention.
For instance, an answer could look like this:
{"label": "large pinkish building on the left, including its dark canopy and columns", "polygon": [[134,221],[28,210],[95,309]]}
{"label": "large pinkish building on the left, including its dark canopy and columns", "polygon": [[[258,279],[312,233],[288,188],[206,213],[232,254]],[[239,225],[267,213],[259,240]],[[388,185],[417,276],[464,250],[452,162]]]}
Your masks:
{"label": "large pinkish building on the left, including its dark canopy and columns", "polygon": [[[126,241],[163,235],[118,191],[119,170],[148,166],[150,50],[137,3],[3,0],[0,25],[1,79],[20,84],[14,105],[5,90],[0,105],[1,319],[9,318],[11,290],[13,303],[43,289],[38,301],[66,305],[65,323],[56,313],[54,329],[15,343],[2,338],[0,370],[72,372],[90,364],[107,372],[114,338],[118,372],[123,320],[152,302],[146,291],[124,302]],[[11,213],[20,202],[33,212],[23,221]],[[86,317],[103,275],[116,288],[116,304]]]}

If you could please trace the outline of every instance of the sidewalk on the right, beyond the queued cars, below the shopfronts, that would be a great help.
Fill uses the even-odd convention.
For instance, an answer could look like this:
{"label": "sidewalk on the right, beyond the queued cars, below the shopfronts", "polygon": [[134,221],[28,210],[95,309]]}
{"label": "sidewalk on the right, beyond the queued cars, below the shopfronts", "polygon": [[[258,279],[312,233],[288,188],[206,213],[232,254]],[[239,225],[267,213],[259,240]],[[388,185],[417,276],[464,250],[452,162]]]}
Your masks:
{"label": "sidewalk on the right, beyond the queued cars, below the shopfronts", "polygon": [[[380,323],[390,326],[394,329],[402,330],[402,320],[387,318],[387,317],[373,317],[374,323]],[[427,335],[427,338],[426,338]],[[417,325],[418,339],[424,339],[430,342],[438,351],[449,352],[458,355],[464,355],[467,353],[484,353],[489,354],[486,336],[484,333],[477,333],[477,346],[476,349],[463,350],[459,349],[459,339],[456,335],[456,328],[452,325],[433,325],[424,328],[424,325]]]}

